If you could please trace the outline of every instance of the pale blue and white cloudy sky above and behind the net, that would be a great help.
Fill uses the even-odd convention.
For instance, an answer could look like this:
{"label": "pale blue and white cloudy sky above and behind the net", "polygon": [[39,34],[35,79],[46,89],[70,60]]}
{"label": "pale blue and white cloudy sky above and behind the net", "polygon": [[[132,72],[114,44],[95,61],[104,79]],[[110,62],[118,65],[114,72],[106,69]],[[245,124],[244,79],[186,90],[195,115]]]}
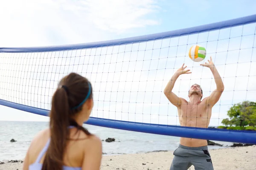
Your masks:
{"label": "pale blue and white cloudy sky above and behind the net", "polygon": [[[198,4],[200,6],[198,7]],[[76,43],[84,43],[84,42],[96,42],[96,41],[104,41],[104,40],[114,40],[125,37],[134,37],[145,34],[154,34],[160,33],[164,31],[172,31],[176,29],[189,28],[193,26],[200,26],[209,23],[215,23],[223,20],[230,20],[237,17],[244,17],[247,15],[255,14],[256,1],[254,0],[244,0],[243,3],[239,0],[226,0],[220,1],[215,0],[207,1],[207,0],[180,0],[171,2],[168,0],[110,0],[108,2],[104,0],[44,0],[44,1],[35,1],[35,0],[26,0],[26,1],[18,1],[18,0],[9,0],[9,1],[0,1],[0,6],[3,7],[0,10],[0,15],[5,16],[1,18],[1,23],[3,26],[0,27],[0,47],[28,47],[28,46],[49,46],[49,45],[67,45],[67,44],[76,44]],[[251,27],[247,28],[247,31],[253,33],[253,28],[255,25],[251,25]],[[218,118],[226,118],[227,107],[230,107],[233,102],[240,102],[239,97],[244,94],[239,94],[239,90],[244,90],[243,88],[250,89],[251,93],[247,93],[244,98],[247,99],[255,99],[254,96],[256,94],[255,88],[253,87],[253,83],[255,81],[255,61],[248,62],[251,59],[251,56],[255,56],[255,51],[250,51],[252,48],[246,49],[249,45],[253,45],[255,47],[255,43],[253,44],[253,36],[245,36],[245,38],[241,39],[241,27],[235,29],[230,35],[233,41],[228,41],[227,34],[229,35],[230,30],[225,30],[219,33],[219,37],[224,38],[223,41],[216,41],[216,32],[212,32],[207,36],[205,34],[200,34],[198,37],[189,37],[189,40],[186,36],[179,39],[166,39],[161,42],[155,41],[152,45],[149,43],[145,46],[145,43],[134,44],[133,46],[120,46],[120,48],[105,48],[105,51],[102,49],[87,50],[82,51],[84,55],[88,55],[87,53],[94,54],[95,56],[92,58],[84,57],[85,63],[100,63],[106,62],[106,59],[109,59],[112,64],[104,64],[104,67],[100,64],[96,64],[97,67],[93,67],[92,65],[88,65],[87,76],[90,77],[90,80],[93,81],[95,93],[94,96],[96,100],[96,110],[97,112],[93,112],[92,116],[104,117],[107,115],[111,117],[111,112],[114,113],[112,116],[118,115],[119,112],[126,112],[130,109],[130,112],[134,112],[134,108],[137,109],[136,113],[138,116],[145,116],[146,113],[150,112],[150,117],[145,116],[143,118],[146,122],[154,122],[155,116],[161,117],[163,121],[168,120],[168,123],[178,124],[177,121],[177,111],[174,111],[172,105],[168,104],[169,102],[166,98],[161,95],[160,91],[163,91],[164,86],[168,82],[168,79],[172,76],[175,69],[179,68],[183,62],[186,62],[186,65],[189,65],[188,68],[192,68],[191,75],[184,75],[180,80],[177,80],[174,91],[179,93],[180,96],[184,98],[187,97],[187,89],[189,85],[193,82],[197,82],[198,79],[201,80],[201,84],[204,86],[204,90],[212,91],[215,88],[212,75],[207,68],[198,67],[198,63],[192,62],[185,56],[190,45],[186,45],[187,42],[189,44],[196,43],[196,41],[201,40],[201,45],[207,46],[207,54],[211,54],[216,66],[221,75],[224,77],[224,85],[227,92],[223,94],[221,100],[217,103],[216,107],[213,109],[212,118],[213,121],[211,125],[219,125]],[[240,32],[239,32],[240,31]],[[244,33],[243,32],[243,33]],[[201,36],[201,37],[200,37]],[[239,36],[239,37],[236,37]],[[201,38],[201,39],[200,39]],[[239,39],[240,38],[240,39]],[[247,39],[246,39],[247,38]],[[211,40],[206,44],[207,40]],[[217,44],[218,42],[218,44]],[[165,45],[172,44],[174,47],[170,51],[165,51]],[[150,46],[151,45],[151,46]],[[179,45],[179,47],[177,47]],[[227,46],[228,45],[228,46]],[[154,51],[145,51],[146,49],[150,49],[152,47],[159,46],[163,48],[163,50],[157,50],[154,48]],[[244,48],[243,50],[237,53],[239,48]],[[252,47],[252,46],[250,46]],[[125,48],[125,49],[122,49]],[[143,56],[150,56],[146,58],[144,62],[136,62],[136,60],[132,55],[126,53],[126,56],[123,55],[123,51],[129,51],[129,49],[140,49],[144,50],[144,53],[138,52],[137,57],[143,59]],[[227,52],[230,48],[233,48],[234,52]],[[97,51],[98,50],[98,51]],[[99,51],[100,50],[100,51]],[[112,51],[113,55],[106,55],[105,61],[102,61],[97,55],[98,54],[108,54],[108,51]],[[131,50],[130,50],[131,51]],[[174,52],[172,52],[174,51]],[[218,54],[215,54],[215,52]],[[114,55],[114,53],[117,53]],[[185,54],[185,55],[184,55]],[[15,58],[8,59],[8,54],[4,56],[4,60],[2,62],[2,66],[6,67],[5,63],[13,62],[15,65],[20,65],[23,60],[28,61],[32,67],[41,64],[41,62],[50,62],[51,57],[57,56],[58,54],[49,54],[49,58],[43,56],[41,58],[46,58],[45,60],[32,60],[32,54],[26,56],[27,59],[23,60],[23,56],[15,56]],[[63,56],[72,56],[74,54],[61,54]],[[169,57],[167,58],[166,55]],[[245,55],[247,57],[240,57]],[[122,56],[122,57],[120,57]],[[176,57],[180,56],[180,57]],[[111,57],[111,58],[110,58]],[[78,57],[77,57],[78,58]],[[87,60],[86,60],[87,59]],[[127,60],[125,60],[127,59]],[[158,62],[152,62],[151,59],[155,59]],[[238,62],[244,62],[244,64],[237,64],[234,59]],[[115,67],[112,67],[116,61],[122,62],[126,61],[129,65],[120,65],[115,64]],[[108,60],[107,60],[108,61]],[[56,61],[58,64],[64,65],[63,61]],[[70,61],[71,62],[71,61]],[[77,60],[73,62],[78,62]],[[167,63],[167,64],[166,64]],[[173,64],[174,63],[174,64]],[[225,65],[229,63],[229,65]],[[198,64],[198,65],[197,65]],[[12,65],[14,69],[16,66]],[[8,65],[8,67],[10,67]],[[50,66],[49,66],[50,67]],[[75,69],[85,72],[84,68],[81,65],[77,67],[74,66]],[[72,68],[72,69],[74,69]],[[143,72],[142,70],[151,69],[151,72]],[[3,69],[3,68],[2,68]],[[18,68],[18,73],[25,73],[29,68]],[[45,67],[41,66],[41,69],[47,70]],[[49,68],[48,68],[49,69]],[[64,69],[64,68],[54,68],[52,66],[51,69]],[[70,68],[71,69],[71,68]],[[101,74],[100,72],[104,72],[105,70],[116,72],[115,74],[108,74],[107,78],[105,78],[105,74]],[[137,74],[134,74],[131,70],[136,70]],[[158,69],[157,71],[154,71]],[[64,69],[65,70],[65,69]],[[234,71],[235,70],[235,71]],[[70,70],[68,70],[70,71]],[[97,73],[96,75],[96,71]],[[121,73],[121,71],[130,71]],[[167,72],[169,71],[169,73]],[[8,75],[8,77],[12,77],[13,74],[17,72],[10,71],[8,73],[3,72],[2,75]],[[20,75],[20,74],[19,74]],[[236,75],[240,75],[240,78],[236,78]],[[248,77],[250,75],[250,77]],[[21,76],[21,75],[20,75]],[[28,76],[28,75],[26,75]],[[33,75],[37,77],[38,75]],[[49,74],[46,75],[50,76]],[[38,85],[38,83],[45,83],[44,86],[47,87],[50,85],[53,89],[56,88],[56,81],[61,76],[55,77],[55,79],[49,78],[49,81],[40,82],[40,81],[30,81],[31,85],[34,83]],[[130,82],[125,82],[126,77],[127,80],[134,80],[133,84]],[[113,84],[103,83],[99,84],[99,81],[107,81],[110,79],[115,79],[119,82]],[[164,79],[164,81],[163,81]],[[209,79],[209,80],[207,80]],[[148,80],[147,83],[145,81]],[[156,80],[158,83],[150,83],[149,80]],[[3,78],[1,82],[8,81],[7,77]],[[55,81],[55,82],[54,82]],[[137,81],[137,82],[136,82]],[[141,82],[139,84],[139,81]],[[144,82],[143,82],[144,81]],[[240,83],[235,83],[234,81],[239,81]],[[25,82],[20,82],[20,85],[23,85]],[[49,84],[47,84],[49,83]],[[245,83],[245,84],[244,84]],[[234,85],[235,84],[235,85]],[[1,98],[6,98],[7,94],[10,96],[12,91],[4,91],[8,89],[8,83],[2,83]],[[22,86],[22,87],[23,87]],[[103,93],[104,89],[107,87],[112,87],[111,91],[107,91],[107,93]],[[12,86],[10,89],[15,89],[17,87]],[[123,89],[122,89],[123,88]],[[36,88],[32,90],[35,91]],[[117,92],[113,92],[114,89],[117,89]],[[146,89],[146,90],[145,90]],[[182,89],[182,90],[180,90]],[[24,91],[20,92],[20,96],[26,94],[31,89],[24,88]],[[38,90],[38,89],[36,89]],[[44,90],[44,89],[43,89]],[[128,91],[143,91],[141,95],[134,96],[135,93],[128,93]],[[232,91],[233,90],[233,91]],[[236,92],[234,92],[236,90]],[[49,89],[48,89],[49,91]],[[121,91],[125,91],[125,93],[118,93]],[[152,93],[154,91],[155,93]],[[180,92],[182,91],[182,92]],[[37,91],[38,93],[42,92]],[[49,96],[52,93],[52,90],[47,92],[48,101],[44,101],[46,105],[43,108],[49,108]],[[111,93],[111,95],[110,95]],[[209,93],[208,93],[209,94]],[[141,101],[136,105],[129,104],[129,101],[125,101],[122,99],[121,95],[127,96],[130,99],[130,102]],[[105,98],[102,99],[102,96]],[[109,99],[106,98],[109,96]],[[25,95],[24,101],[31,101],[32,95]],[[112,98],[111,98],[112,97]],[[14,100],[13,97],[9,98]],[[45,99],[45,98],[44,98]],[[42,99],[42,100],[44,100]],[[109,100],[111,102],[100,102],[101,100]],[[18,101],[23,103],[24,101]],[[113,101],[119,101],[118,104],[113,103]],[[161,104],[159,104],[161,101]],[[42,107],[40,104],[44,103],[35,102],[30,103],[31,105]],[[147,104],[153,102],[154,104]],[[120,105],[120,103],[122,103]],[[158,104],[157,104],[158,103]],[[226,105],[225,105],[226,103]],[[24,103],[23,103],[24,104]],[[26,103],[25,103],[26,104]],[[40,105],[40,106],[39,106]],[[145,108],[144,110],[141,110]],[[122,109],[125,109],[123,111]],[[168,110],[166,112],[166,109]],[[0,120],[14,120],[14,121],[49,121],[48,117],[39,116],[32,113],[26,113],[23,111],[18,111],[12,108],[7,108],[4,106],[0,106]],[[108,113],[103,113],[104,111],[109,111]],[[163,114],[159,116],[158,114]],[[166,114],[170,114],[171,116],[167,116]],[[137,115],[133,114],[122,114],[123,117],[120,119],[129,119],[134,121],[137,118]],[[173,117],[174,116],[174,117]],[[167,118],[167,119],[166,119]],[[116,119],[119,119],[116,117]],[[157,121],[160,121],[160,119]],[[155,123],[155,122],[154,122]],[[159,122],[156,122],[159,123]]]}

